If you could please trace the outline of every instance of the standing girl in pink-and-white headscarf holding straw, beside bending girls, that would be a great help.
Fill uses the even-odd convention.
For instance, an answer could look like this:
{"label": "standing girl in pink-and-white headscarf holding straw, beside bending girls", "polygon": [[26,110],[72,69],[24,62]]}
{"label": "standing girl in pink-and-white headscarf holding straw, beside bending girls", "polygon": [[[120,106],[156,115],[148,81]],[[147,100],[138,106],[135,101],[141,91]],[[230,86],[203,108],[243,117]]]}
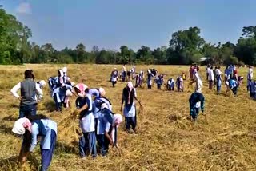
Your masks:
{"label": "standing girl in pink-and-white headscarf holding straw, beside bending girls", "polygon": [[93,104],[87,85],[79,83],[74,87],[78,98],[75,101],[79,114],[79,125],[82,129],[83,137],[79,140],[79,152],[81,157],[87,157],[90,152],[93,158],[97,157],[95,121],[92,111]]}

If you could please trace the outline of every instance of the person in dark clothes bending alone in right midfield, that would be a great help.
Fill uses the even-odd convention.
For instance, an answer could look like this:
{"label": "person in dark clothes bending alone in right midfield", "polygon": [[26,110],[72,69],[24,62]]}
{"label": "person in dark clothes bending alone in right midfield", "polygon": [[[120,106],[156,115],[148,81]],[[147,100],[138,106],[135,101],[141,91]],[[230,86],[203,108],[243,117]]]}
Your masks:
{"label": "person in dark clothes bending alone in right midfield", "polygon": [[194,92],[190,96],[189,103],[191,121],[196,121],[199,110],[201,109],[202,113],[204,113],[205,97],[202,95],[202,93]]}

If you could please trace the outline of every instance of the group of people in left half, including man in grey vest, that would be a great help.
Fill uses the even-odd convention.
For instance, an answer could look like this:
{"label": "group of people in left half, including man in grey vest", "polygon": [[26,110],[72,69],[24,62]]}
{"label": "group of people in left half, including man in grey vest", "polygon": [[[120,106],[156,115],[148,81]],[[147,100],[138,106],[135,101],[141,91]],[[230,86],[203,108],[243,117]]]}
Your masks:
{"label": "group of people in left half, including man in grey vest", "polygon": [[[66,75],[62,74],[62,70],[59,70],[58,78],[54,82],[58,82],[58,84],[61,82],[62,85],[53,84],[55,87],[51,89],[52,92],[58,92],[53,96],[62,98],[62,93],[59,93],[61,90],[56,91],[55,89],[65,87],[66,82],[64,80],[69,85],[69,79],[63,78],[64,76]],[[53,87],[51,83],[49,82],[50,88]],[[15,121],[12,129],[13,133],[23,136],[19,161],[26,161],[28,153],[34,150],[38,137],[41,137],[41,170],[49,168],[57,140],[57,123],[44,115],[38,114],[36,109],[38,101],[42,101],[41,88],[44,85],[46,85],[44,81],[34,82],[32,70],[26,70],[25,80],[11,89],[14,97],[21,101],[18,121]],[[17,93],[18,89],[21,89],[20,96]],[[107,155],[110,145],[118,148],[118,125],[122,123],[122,115],[113,113],[112,104],[105,96],[105,89],[90,89],[87,85],[78,83],[74,86],[70,85],[68,90],[77,97],[75,101],[77,111],[74,113],[78,113],[79,125],[82,130],[82,136],[79,138],[80,156],[88,157],[91,155],[95,158],[97,156],[97,145],[102,156]],[[54,100],[56,100],[56,97]],[[136,133],[135,101],[138,101],[136,89],[132,82],[128,82],[122,90],[121,105],[127,133]],[[64,101],[62,102],[64,103]],[[138,103],[141,105],[140,101]]]}

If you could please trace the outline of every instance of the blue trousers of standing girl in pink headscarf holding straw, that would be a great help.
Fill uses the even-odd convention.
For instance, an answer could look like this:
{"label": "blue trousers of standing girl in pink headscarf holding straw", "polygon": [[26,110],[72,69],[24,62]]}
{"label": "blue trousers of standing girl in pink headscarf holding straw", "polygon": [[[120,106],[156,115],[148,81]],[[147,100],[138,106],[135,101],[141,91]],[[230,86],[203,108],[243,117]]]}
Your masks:
{"label": "blue trousers of standing girl in pink headscarf holding straw", "polygon": [[[89,156],[90,154],[92,157],[97,156],[97,149],[96,149],[96,136],[95,132],[90,133],[82,133],[83,136],[79,138],[79,153],[81,157]],[[88,153],[90,152],[90,153]]]}

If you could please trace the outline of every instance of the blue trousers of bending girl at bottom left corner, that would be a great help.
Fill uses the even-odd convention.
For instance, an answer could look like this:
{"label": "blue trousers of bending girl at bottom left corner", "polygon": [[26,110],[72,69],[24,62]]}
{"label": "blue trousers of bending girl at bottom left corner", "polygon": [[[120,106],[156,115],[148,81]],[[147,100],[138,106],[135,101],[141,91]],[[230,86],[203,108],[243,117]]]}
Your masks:
{"label": "blue trousers of bending girl at bottom left corner", "polygon": [[54,154],[54,149],[55,149],[55,144],[56,144],[56,133],[54,130],[51,130],[50,133],[50,149],[42,149],[41,146],[41,156],[42,156],[42,160],[41,160],[41,170],[42,171],[46,171],[48,169],[48,167],[50,166],[50,161],[53,157]]}

